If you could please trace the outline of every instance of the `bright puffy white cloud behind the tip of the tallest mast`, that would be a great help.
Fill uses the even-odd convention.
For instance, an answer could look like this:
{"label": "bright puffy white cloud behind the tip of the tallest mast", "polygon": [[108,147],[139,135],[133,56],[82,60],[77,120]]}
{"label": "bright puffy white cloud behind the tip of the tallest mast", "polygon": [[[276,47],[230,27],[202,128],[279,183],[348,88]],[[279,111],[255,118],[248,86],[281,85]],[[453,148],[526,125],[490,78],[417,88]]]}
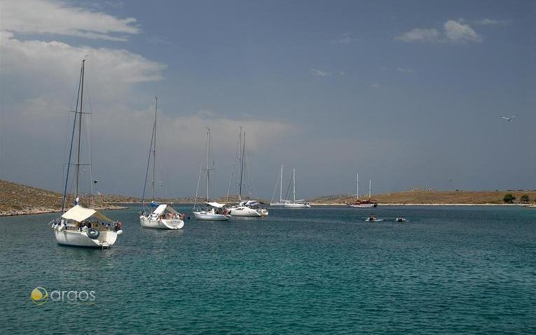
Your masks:
{"label": "bright puffy white cloud behind the tip of the tallest mast", "polygon": [[[46,78],[30,87],[46,88],[51,81],[71,83],[76,78],[78,64],[88,55],[92,89],[111,99],[131,84],[163,79],[164,64],[152,62],[127,50],[74,47],[58,41],[20,41],[9,32],[0,32],[2,60],[0,74],[16,74],[31,78]],[[53,70],[52,70],[53,69]],[[121,83],[121,85],[118,85]]]}

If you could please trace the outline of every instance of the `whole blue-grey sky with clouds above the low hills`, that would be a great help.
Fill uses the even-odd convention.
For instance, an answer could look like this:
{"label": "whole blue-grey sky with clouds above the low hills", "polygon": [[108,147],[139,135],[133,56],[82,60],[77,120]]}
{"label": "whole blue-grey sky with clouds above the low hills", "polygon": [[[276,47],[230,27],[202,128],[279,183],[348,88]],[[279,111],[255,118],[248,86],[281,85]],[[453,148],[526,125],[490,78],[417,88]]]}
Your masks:
{"label": "whole blue-grey sky with clouds above the low hills", "polygon": [[[60,191],[81,60],[97,190],[536,189],[535,1],[0,2],[0,179]],[[514,121],[500,116],[515,114]],[[88,123],[89,124],[89,123]],[[89,156],[89,155],[85,155]],[[204,192],[204,191],[202,191]],[[233,191],[232,191],[233,193]]]}

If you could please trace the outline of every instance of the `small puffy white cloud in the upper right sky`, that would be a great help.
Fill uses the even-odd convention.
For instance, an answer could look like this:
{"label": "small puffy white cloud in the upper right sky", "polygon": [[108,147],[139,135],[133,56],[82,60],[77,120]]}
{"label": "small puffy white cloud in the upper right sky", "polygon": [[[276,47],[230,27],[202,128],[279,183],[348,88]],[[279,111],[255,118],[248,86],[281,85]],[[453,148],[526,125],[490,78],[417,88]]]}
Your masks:
{"label": "small puffy white cloud in the upper right sky", "polygon": [[403,42],[435,42],[435,43],[481,43],[482,37],[462,20],[448,20],[443,25],[443,31],[437,29],[411,29],[396,36],[394,39]]}

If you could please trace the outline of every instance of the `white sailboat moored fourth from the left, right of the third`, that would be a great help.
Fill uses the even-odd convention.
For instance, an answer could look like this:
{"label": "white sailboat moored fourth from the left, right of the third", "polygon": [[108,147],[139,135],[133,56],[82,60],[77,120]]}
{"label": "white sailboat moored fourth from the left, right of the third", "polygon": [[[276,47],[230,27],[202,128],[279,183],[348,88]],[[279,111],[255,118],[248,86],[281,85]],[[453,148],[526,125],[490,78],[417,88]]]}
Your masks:
{"label": "white sailboat moored fourth from the left, right of the third", "polygon": [[[240,171],[238,176],[238,205],[229,207],[229,213],[235,217],[266,217],[268,215],[268,209],[261,207],[261,203],[257,200],[242,200],[242,186],[244,185],[244,167],[246,165],[246,132],[242,132],[240,127],[240,135],[238,135],[238,147],[235,164],[233,164],[233,170],[231,171],[231,180],[229,181],[229,189],[227,191],[227,198],[231,192],[231,184],[233,183],[233,175],[235,171],[235,165],[238,162],[240,164]],[[250,183],[251,184],[251,183]]]}

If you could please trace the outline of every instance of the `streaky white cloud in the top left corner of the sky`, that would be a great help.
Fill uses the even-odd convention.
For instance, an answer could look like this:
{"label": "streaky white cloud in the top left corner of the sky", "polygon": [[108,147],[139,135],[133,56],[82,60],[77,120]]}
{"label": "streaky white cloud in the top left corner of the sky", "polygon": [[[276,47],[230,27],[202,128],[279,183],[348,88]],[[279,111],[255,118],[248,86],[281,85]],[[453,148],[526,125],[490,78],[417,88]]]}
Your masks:
{"label": "streaky white cloud in the top left corner of the sky", "polygon": [[137,34],[134,18],[120,19],[106,13],[74,7],[64,1],[4,0],[1,29],[24,34],[58,34],[87,39],[125,41]]}

